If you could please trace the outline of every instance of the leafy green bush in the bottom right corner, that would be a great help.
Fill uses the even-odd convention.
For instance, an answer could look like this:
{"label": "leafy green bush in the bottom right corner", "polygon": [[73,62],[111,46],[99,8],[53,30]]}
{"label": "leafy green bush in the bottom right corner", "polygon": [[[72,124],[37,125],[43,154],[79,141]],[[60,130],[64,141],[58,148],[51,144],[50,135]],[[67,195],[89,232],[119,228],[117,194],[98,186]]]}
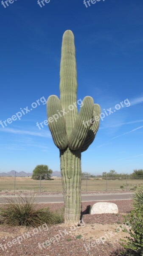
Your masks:
{"label": "leafy green bush in the bottom right corner", "polygon": [[129,230],[123,230],[129,236],[126,236],[126,240],[121,239],[121,245],[126,249],[125,255],[143,256],[143,207],[132,210],[125,221],[129,221]]}

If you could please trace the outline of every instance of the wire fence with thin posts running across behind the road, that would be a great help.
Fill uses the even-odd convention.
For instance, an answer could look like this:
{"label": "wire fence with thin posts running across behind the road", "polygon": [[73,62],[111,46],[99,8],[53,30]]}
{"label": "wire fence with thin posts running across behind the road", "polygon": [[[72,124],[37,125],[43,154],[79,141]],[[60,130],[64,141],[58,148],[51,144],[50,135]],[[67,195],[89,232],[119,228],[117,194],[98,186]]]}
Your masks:
{"label": "wire fence with thin posts running across behind the road", "polygon": [[[143,179],[125,177],[82,177],[81,192],[134,191],[143,186]],[[0,192],[63,192],[62,178],[32,180],[31,177],[0,177]]]}

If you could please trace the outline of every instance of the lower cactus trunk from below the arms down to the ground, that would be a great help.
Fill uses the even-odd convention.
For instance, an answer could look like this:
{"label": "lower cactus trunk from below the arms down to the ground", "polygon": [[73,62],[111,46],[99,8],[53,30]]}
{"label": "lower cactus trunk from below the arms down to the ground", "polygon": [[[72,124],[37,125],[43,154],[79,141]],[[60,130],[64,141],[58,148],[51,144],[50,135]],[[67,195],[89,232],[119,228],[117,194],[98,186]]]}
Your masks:
{"label": "lower cactus trunk from below the arms down to the ground", "polygon": [[79,224],[81,215],[81,150],[60,150],[66,225]]}

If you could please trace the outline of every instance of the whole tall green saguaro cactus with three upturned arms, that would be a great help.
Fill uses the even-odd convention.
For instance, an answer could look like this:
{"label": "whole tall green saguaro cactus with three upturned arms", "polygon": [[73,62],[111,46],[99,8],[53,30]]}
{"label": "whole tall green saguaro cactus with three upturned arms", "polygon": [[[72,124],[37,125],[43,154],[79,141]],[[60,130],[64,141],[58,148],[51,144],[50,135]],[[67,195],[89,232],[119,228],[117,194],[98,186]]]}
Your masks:
{"label": "whole tall green saguaro cactus with three upturned arms", "polygon": [[48,126],[60,151],[64,190],[65,224],[73,225],[81,215],[81,152],[93,142],[99,127],[100,107],[86,96],[77,110],[77,74],[74,35],[64,32],[60,65],[60,99],[47,101]]}

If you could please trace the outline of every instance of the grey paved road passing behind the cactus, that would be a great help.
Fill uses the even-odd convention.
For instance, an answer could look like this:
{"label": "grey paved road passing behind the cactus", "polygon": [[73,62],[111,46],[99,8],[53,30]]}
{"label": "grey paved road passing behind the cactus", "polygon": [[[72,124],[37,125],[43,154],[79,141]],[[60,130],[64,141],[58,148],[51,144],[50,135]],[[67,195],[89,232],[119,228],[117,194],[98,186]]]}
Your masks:
{"label": "grey paved road passing behind the cactus", "polygon": [[[91,201],[112,201],[112,200],[129,200],[132,199],[134,193],[120,193],[120,194],[87,194],[81,195],[82,202],[91,202]],[[9,197],[9,196],[6,196]],[[5,201],[5,196],[0,196],[0,203]],[[12,198],[17,198],[17,196],[12,196]],[[36,200],[39,203],[62,203],[63,195],[40,195],[35,196]]]}

